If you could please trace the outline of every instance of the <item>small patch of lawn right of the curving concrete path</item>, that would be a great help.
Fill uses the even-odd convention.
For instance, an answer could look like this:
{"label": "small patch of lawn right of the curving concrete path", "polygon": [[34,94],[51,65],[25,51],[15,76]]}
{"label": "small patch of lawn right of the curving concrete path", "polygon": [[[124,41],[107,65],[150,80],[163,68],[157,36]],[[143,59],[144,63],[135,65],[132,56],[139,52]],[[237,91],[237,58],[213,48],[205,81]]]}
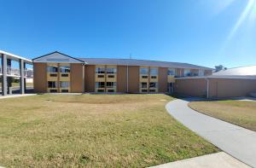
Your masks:
{"label": "small patch of lawn right of the curving concrete path", "polygon": [[189,107],[212,117],[256,131],[255,101],[194,101]]}

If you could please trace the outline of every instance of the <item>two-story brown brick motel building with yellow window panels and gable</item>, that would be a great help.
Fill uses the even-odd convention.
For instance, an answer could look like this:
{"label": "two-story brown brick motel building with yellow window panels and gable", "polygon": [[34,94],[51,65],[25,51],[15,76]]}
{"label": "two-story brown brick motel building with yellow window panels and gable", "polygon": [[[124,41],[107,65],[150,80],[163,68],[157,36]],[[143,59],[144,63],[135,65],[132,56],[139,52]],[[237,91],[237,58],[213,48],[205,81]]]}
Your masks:
{"label": "two-story brown brick motel building with yellow window panels and gable", "polygon": [[166,93],[175,78],[207,76],[212,69],[187,63],[75,58],[53,52],[33,59],[35,92]]}

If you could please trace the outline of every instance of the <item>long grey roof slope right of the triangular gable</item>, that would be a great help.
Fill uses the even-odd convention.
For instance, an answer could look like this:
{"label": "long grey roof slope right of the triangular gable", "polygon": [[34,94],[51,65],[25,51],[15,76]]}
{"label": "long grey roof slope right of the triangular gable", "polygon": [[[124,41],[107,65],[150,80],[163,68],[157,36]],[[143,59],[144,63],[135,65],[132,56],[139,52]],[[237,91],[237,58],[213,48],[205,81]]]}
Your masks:
{"label": "long grey roof slope right of the triangular gable", "polygon": [[137,59],[114,59],[114,58],[79,58],[88,65],[122,65],[122,66],[144,66],[144,67],[175,67],[189,69],[212,70],[209,67],[201,67],[188,63],[167,62],[167,61],[147,61]]}

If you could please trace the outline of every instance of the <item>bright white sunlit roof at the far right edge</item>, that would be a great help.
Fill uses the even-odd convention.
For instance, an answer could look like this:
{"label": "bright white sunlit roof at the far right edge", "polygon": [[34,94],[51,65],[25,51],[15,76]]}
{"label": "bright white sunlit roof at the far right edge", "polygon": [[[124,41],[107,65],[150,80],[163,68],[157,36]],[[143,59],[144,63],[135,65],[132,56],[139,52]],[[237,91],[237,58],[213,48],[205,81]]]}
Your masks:
{"label": "bright white sunlit roof at the far right edge", "polygon": [[256,66],[248,67],[235,67],[219,72],[213,72],[212,76],[255,76],[256,77]]}

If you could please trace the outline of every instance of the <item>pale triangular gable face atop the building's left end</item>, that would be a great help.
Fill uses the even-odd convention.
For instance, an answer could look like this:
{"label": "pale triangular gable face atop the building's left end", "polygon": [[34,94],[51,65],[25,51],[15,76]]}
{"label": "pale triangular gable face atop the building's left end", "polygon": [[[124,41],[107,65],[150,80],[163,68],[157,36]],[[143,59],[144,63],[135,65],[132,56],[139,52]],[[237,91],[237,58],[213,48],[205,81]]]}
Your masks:
{"label": "pale triangular gable face atop the building's left end", "polygon": [[44,63],[84,63],[84,61],[79,61],[78,59],[67,55],[62,55],[61,53],[52,53],[49,55],[41,56],[34,59],[33,61]]}

